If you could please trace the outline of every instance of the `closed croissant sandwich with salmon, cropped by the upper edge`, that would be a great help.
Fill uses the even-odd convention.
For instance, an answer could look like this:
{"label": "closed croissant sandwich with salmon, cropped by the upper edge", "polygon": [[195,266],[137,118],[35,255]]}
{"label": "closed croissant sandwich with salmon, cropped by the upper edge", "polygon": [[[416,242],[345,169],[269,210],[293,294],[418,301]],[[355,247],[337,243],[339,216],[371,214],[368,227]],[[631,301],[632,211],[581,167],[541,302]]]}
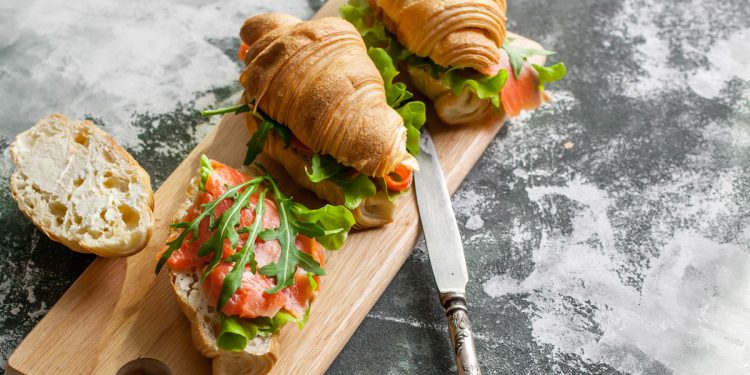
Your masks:
{"label": "closed croissant sandwich with salmon, cropped by the upper edge", "polygon": [[517,116],[547,100],[565,66],[527,61],[552,54],[506,31],[505,0],[350,0],[341,16],[368,46],[386,49],[447,124]]}

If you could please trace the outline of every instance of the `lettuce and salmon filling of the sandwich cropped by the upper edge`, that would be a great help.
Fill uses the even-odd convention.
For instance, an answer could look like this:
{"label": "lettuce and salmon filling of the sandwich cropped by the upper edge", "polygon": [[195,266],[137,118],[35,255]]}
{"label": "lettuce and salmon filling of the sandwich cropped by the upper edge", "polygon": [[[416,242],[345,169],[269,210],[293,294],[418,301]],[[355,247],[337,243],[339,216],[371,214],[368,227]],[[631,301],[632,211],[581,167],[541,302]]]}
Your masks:
{"label": "lettuce and salmon filling of the sandwich cropped by the upper edge", "polygon": [[[548,67],[529,64],[526,59],[530,56],[554,52],[516,46],[511,37],[502,43],[500,63],[493,69],[479,72],[467,67],[441,66],[429,56],[415,54],[399,43],[381,19],[385,17],[382,11],[373,11],[367,0],[350,0],[341,7],[340,14],[357,28],[365,45],[382,48],[394,61],[406,64],[415,86],[433,101],[439,94],[449,91],[456,97],[468,94],[488,102],[482,106],[476,101],[468,103],[471,98],[463,98],[451,103],[455,110],[467,104],[481,109],[491,106],[495,111],[504,110],[510,116],[517,116],[522,110],[540,105],[544,99],[541,94],[544,84],[562,79],[566,73],[562,63]],[[428,80],[435,81],[439,87],[414,82]]]}

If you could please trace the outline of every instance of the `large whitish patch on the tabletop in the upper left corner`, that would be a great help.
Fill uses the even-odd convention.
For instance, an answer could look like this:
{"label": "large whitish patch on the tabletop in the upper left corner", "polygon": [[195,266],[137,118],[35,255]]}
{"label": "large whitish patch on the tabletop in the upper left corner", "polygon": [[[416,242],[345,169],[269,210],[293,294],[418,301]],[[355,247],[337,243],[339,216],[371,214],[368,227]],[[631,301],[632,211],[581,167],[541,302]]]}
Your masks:
{"label": "large whitish patch on the tabletop in the upper left corner", "polygon": [[[307,17],[302,2],[11,2],[0,14],[0,113],[14,136],[59,111],[92,114],[127,146],[134,112],[170,112],[195,93],[237,82],[239,66],[219,46],[244,18],[277,10]],[[226,48],[226,47],[224,47]],[[34,100],[14,92],[36,92]]]}

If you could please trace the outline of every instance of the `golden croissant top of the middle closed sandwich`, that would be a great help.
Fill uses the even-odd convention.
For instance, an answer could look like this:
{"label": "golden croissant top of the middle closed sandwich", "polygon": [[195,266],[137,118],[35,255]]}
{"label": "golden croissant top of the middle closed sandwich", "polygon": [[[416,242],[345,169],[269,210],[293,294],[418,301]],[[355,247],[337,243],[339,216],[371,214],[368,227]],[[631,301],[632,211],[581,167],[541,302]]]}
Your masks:
{"label": "golden croissant top of the middle closed sandwich", "polygon": [[416,165],[406,129],[357,30],[338,18],[264,14],[240,31],[245,98],[314,152],[369,176]]}

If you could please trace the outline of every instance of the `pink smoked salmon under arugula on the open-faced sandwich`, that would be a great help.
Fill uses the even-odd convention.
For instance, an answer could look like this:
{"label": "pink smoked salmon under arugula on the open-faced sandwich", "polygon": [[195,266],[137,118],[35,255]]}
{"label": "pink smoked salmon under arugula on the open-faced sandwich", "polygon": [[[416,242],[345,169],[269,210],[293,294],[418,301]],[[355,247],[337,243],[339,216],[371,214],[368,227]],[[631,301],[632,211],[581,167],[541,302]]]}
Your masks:
{"label": "pink smoked salmon under arugula on the open-faced sandwich", "polygon": [[[183,220],[190,221],[200,214],[201,205],[211,202],[226,192],[228,186],[238,185],[250,179],[249,176],[240,171],[231,168],[217,161],[211,162],[212,171],[209,174],[205,191],[198,193],[195,203],[188,210]],[[258,203],[258,193],[251,196],[247,208],[240,212],[240,226],[249,226],[254,221],[255,206]],[[263,213],[263,229],[273,229],[280,225],[279,212],[276,203],[266,198],[265,212]],[[231,199],[225,199],[216,207],[215,219],[232,206]],[[182,246],[175,250],[167,260],[167,266],[174,270],[190,271],[194,270],[200,274],[204,267],[211,261],[212,254],[198,256],[198,249],[201,244],[205,243],[213,234],[209,228],[209,218],[204,218],[199,225],[198,238],[192,238],[192,234],[187,236],[187,240]],[[176,234],[173,235],[175,237]],[[231,256],[242,248],[248,234],[241,233],[238,246],[232,248],[227,240],[224,243],[222,259]],[[321,266],[324,266],[324,249],[313,238],[304,235],[298,235],[295,239],[297,248],[310,254]],[[222,307],[222,312],[227,315],[238,316],[240,318],[257,318],[273,317],[280,310],[285,310],[297,318],[302,318],[305,311],[310,306],[310,302],[317,294],[317,283],[320,281],[319,276],[308,277],[307,272],[297,269],[294,275],[294,284],[283,289],[279,293],[268,294],[265,291],[274,287],[276,281],[257,272],[261,267],[275,262],[281,254],[281,246],[278,241],[264,241],[256,239],[254,244],[255,260],[257,262],[256,272],[252,272],[248,265],[243,274],[242,282],[230,297],[229,301]],[[232,270],[233,263],[220,262],[216,268],[203,280],[203,288],[208,296],[212,306],[217,305],[219,295],[224,285],[224,278]],[[313,283],[310,282],[313,281]],[[313,284],[313,285],[311,285]]]}

